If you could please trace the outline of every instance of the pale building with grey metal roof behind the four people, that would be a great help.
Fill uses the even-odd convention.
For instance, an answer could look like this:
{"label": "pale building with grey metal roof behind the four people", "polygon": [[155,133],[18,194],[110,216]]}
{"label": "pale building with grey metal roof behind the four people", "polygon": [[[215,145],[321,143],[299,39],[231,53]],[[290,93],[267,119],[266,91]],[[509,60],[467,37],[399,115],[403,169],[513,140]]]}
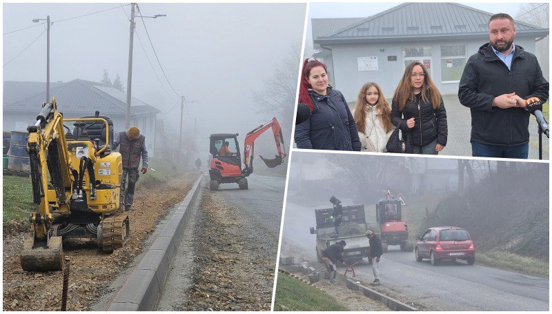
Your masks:
{"label": "pale building with grey metal roof behind the four people", "polygon": [[[415,60],[424,63],[443,95],[455,95],[467,59],[489,42],[491,15],[458,3],[435,2],[403,3],[359,21],[313,19],[313,46],[320,50],[315,57],[328,65],[331,81],[348,101],[355,101],[368,81],[391,98],[404,68]],[[515,21],[515,28],[515,44],[533,54],[535,41],[549,35],[549,29],[521,21]]]}

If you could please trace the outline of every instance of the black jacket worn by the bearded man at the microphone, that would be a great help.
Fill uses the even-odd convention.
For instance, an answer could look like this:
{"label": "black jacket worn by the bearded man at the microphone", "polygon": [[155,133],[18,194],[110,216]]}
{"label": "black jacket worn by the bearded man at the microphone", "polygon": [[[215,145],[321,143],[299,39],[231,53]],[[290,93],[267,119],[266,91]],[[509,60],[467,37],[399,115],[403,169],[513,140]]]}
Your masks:
{"label": "black jacket worn by the bearded man at the microphone", "polygon": [[527,99],[549,97],[549,83],[542,77],[535,55],[515,46],[511,70],[489,43],[472,55],[458,88],[460,104],[471,109],[471,141],[516,146],[529,142],[529,112],[523,108],[493,107],[495,97],[515,92]]}

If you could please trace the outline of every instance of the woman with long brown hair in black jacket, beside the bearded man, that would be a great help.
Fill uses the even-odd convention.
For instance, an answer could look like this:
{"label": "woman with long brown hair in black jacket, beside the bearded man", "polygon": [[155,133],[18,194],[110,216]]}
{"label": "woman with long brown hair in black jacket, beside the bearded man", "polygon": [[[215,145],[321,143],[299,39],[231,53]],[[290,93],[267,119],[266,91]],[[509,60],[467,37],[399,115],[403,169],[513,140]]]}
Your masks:
{"label": "woman with long brown hair in black jacket, beside the bearded man", "polygon": [[391,121],[410,131],[415,154],[437,155],[446,146],[446,110],[437,86],[422,63],[404,70],[391,104]]}

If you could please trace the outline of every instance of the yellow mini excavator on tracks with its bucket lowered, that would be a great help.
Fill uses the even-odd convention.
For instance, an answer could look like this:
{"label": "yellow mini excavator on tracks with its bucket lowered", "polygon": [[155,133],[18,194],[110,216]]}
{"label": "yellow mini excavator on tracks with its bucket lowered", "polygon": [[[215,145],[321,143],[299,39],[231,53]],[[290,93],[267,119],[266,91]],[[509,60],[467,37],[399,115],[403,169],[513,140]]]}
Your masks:
{"label": "yellow mini excavator on tracks with its bucket lowered", "polygon": [[[73,122],[73,130],[64,126]],[[68,130],[64,133],[63,128]],[[109,117],[63,119],[55,97],[42,104],[37,122],[28,127],[32,197],[32,238],[23,243],[24,271],[62,268],[62,237],[94,237],[101,251],[112,253],[130,234],[128,215],[119,209],[121,154],[111,152]]]}

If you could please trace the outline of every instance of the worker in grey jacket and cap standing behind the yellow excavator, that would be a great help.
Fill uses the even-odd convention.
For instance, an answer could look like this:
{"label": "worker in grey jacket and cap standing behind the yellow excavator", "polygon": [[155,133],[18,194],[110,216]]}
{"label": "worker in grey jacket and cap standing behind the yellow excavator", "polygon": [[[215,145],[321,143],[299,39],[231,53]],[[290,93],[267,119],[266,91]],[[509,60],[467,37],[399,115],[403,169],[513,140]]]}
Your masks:
{"label": "worker in grey jacket and cap standing behind the yellow excavator", "polygon": [[[121,208],[124,205],[125,210],[130,210],[134,200],[134,190],[138,181],[138,166],[140,157],[142,159],[142,173],[148,172],[148,149],[146,148],[146,137],[140,134],[136,126],[131,126],[128,130],[119,132],[113,139],[113,149],[117,146],[123,159],[123,178],[121,179]],[[128,175],[128,187],[126,186],[126,177]]]}

